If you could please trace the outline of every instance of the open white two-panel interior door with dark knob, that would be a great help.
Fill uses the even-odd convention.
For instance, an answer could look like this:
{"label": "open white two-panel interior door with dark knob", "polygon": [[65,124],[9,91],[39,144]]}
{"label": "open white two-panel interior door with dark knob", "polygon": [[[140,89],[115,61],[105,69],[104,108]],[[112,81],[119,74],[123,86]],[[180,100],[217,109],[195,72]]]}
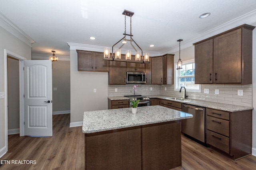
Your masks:
{"label": "open white two-panel interior door with dark knob", "polygon": [[24,61],[24,135],[52,136],[52,61]]}

